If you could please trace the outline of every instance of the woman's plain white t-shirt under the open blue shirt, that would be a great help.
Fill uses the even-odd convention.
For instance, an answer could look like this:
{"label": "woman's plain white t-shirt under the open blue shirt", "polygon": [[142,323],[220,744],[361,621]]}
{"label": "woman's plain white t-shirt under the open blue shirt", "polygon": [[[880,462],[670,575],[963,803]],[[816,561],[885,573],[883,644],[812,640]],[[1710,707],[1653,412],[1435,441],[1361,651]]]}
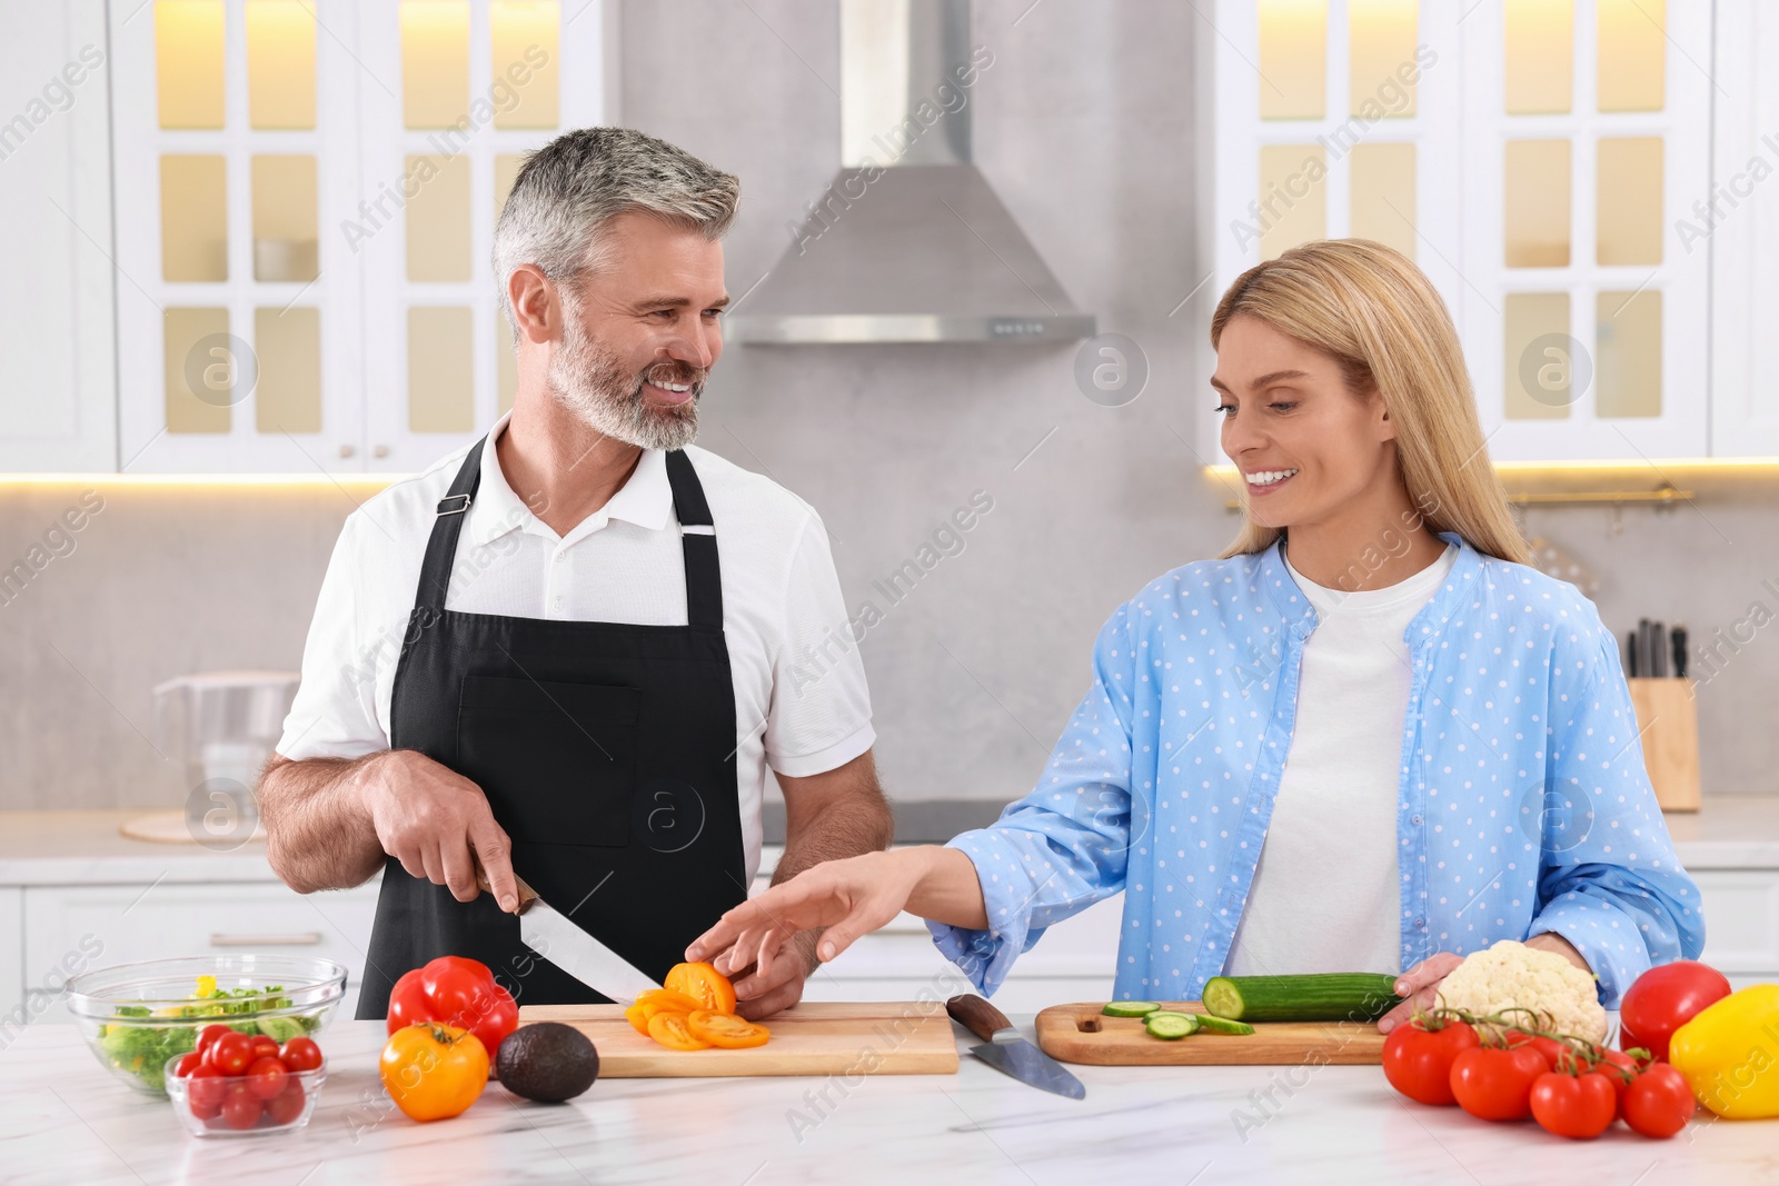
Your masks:
{"label": "woman's plain white t-shirt under the open blue shirt", "polygon": [[1397,795],[1413,670],[1402,631],[1455,560],[1448,544],[1407,580],[1363,592],[1316,585],[1284,560],[1316,628],[1224,974],[1404,971]]}

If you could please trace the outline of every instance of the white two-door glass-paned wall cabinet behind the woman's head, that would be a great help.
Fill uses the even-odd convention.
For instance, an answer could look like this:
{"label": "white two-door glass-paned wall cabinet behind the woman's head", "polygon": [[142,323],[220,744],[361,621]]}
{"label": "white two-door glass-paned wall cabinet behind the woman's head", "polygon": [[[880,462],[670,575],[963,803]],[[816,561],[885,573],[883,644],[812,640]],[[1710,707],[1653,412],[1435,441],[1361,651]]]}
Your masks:
{"label": "white two-door glass-paned wall cabinet behind the woman's head", "polygon": [[[1731,30],[1754,9],[1715,5]],[[1692,224],[1710,199],[1713,110],[1751,144],[1775,126],[1752,100],[1770,52],[1736,39],[1747,85],[1719,80],[1713,107],[1713,75],[1699,68],[1711,60],[1711,4],[1222,0],[1215,14],[1211,69],[1199,71],[1213,149],[1201,318],[1244,268],[1290,245],[1382,240],[1452,311],[1494,461],[1754,448],[1715,416],[1720,379],[1704,359],[1713,338],[1747,354],[1752,393],[1770,370],[1756,340],[1770,334],[1749,308],[1733,313],[1742,331],[1715,329],[1726,302],[1710,301],[1713,256]],[[1717,36],[1727,44],[1722,25]],[[1756,220],[1743,224],[1752,233]],[[1754,279],[1770,268],[1752,251],[1736,267],[1719,292],[1774,286]],[[1779,430],[1774,397],[1743,398]],[[1222,461],[1211,404],[1199,453]]]}

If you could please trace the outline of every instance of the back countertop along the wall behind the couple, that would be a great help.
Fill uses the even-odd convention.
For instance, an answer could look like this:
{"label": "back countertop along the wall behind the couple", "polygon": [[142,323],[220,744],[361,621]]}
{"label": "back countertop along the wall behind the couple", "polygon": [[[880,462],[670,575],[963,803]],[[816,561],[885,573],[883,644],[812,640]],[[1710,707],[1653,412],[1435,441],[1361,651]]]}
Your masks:
{"label": "back countertop along the wall behind the couple", "polygon": [[[158,845],[119,834],[139,809],[0,811],[0,885],[96,885],[276,880],[265,843],[231,852]],[[1669,834],[1688,869],[1779,868],[1779,795],[1706,797],[1697,813],[1667,813]],[[769,877],[781,848],[761,848]]]}

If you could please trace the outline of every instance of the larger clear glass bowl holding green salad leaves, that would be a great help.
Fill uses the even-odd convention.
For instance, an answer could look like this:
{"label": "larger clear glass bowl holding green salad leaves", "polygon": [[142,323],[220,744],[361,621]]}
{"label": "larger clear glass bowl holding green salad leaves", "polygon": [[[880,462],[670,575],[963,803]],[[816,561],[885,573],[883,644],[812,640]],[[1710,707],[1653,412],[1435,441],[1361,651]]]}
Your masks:
{"label": "larger clear glass bowl holding green salad leaves", "polygon": [[[235,998],[194,1001],[199,976]],[[68,982],[68,1012],[107,1070],[148,1095],[165,1094],[164,1065],[197,1047],[197,1033],[222,1022],[283,1044],[315,1037],[340,1008],[347,971],[333,960],[288,955],[206,955],[146,960],[82,973]],[[267,987],[278,992],[263,992]]]}

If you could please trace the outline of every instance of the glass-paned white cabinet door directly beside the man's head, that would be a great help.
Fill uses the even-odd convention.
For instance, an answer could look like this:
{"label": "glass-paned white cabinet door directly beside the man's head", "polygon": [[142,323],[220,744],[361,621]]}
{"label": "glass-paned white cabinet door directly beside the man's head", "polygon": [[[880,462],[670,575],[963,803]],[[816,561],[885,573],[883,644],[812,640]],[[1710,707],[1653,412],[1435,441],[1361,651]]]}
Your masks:
{"label": "glass-paned white cabinet door directly beside the man's head", "polygon": [[603,123],[600,4],[358,9],[366,466],[425,469],[512,405],[489,254],[525,156]]}

